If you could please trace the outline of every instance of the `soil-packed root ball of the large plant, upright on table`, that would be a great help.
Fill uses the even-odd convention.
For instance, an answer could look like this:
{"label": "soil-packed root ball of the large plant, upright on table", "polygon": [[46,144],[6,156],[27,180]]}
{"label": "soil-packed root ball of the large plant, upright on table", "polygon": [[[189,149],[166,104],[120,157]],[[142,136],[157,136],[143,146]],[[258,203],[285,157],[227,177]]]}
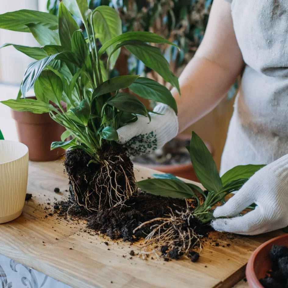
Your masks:
{"label": "soil-packed root ball of the large plant, upright on table", "polygon": [[121,206],[137,195],[133,164],[122,146],[103,145],[96,163],[81,149],[68,150],[64,165],[71,198],[87,211]]}

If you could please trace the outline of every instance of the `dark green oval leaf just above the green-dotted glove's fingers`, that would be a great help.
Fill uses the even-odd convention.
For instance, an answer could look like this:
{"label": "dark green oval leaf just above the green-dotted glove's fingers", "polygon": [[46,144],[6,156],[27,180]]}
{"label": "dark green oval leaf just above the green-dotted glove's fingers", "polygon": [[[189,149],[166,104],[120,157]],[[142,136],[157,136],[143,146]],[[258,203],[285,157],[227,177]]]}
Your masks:
{"label": "dark green oval leaf just above the green-dotted glove's fingers", "polygon": [[145,106],[133,95],[118,93],[112,99],[106,101],[107,104],[116,107],[120,111],[147,116]]}

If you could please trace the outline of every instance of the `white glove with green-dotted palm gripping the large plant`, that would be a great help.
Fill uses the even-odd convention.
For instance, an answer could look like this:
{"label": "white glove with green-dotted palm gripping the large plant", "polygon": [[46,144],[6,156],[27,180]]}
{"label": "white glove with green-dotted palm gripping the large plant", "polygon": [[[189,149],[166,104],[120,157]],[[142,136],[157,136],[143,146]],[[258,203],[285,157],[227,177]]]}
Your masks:
{"label": "white glove with green-dotted palm gripping the large plant", "polygon": [[[161,148],[178,134],[178,118],[172,108],[158,104],[148,117],[137,115],[138,120],[117,130],[119,142],[125,144],[130,156],[151,153]],[[149,123],[150,122],[150,123]]]}

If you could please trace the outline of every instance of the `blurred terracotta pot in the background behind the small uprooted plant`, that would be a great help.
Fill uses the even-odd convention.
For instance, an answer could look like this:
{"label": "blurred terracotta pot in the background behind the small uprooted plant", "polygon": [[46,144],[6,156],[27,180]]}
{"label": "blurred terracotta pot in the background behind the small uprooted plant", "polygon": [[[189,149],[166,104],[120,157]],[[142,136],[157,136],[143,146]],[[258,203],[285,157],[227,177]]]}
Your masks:
{"label": "blurred terracotta pot in the background behind the small uprooted plant", "polygon": [[[181,140],[191,140],[191,136],[187,134],[180,134],[176,138],[181,139]],[[212,154],[212,147],[210,144],[206,143],[206,146],[210,153]],[[197,179],[197,176],[194,172],[193,166],[191,163],[186,163],[186,164],[173,164],[173,165],[159,165],[159,164],[139,164],[141,166],[151,168],[160,172],[164,173],[171,173],[175,176],[182,177],[185,179],[193,180],[199,182]]]}

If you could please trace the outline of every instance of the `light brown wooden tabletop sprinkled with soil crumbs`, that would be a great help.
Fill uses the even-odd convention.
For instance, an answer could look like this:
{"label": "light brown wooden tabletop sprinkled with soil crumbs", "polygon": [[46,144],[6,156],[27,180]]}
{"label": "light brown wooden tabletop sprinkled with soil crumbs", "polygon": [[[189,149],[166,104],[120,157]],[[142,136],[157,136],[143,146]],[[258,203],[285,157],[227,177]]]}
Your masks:
{"label": "light brown wooden tabletop sprinkled with soil crumbs", "polygon": [[[138,180],[154,172],[135,167]],[[18,219],[0,225],[0,254],[75,288],[232,287],[244,277],[252,251],[282,233],[233,236],[231,240],[231,235],[215,232],[212,236],[219,246],[216,247],[215,242],[204,244],[197,263],[190,260],[165,262],[156,257],[154,260],[142,260],[137,256],[130,259],[129,252],[137,251],[135,245],[88,234],[89,231],[84,231],[85,223],[48,215],[53,202],[68,194],[56,194],[55,187],[61,191],[68,189],[61,161],[31,162],[27,193],[32,193],[33,198],[25,203]]]}

